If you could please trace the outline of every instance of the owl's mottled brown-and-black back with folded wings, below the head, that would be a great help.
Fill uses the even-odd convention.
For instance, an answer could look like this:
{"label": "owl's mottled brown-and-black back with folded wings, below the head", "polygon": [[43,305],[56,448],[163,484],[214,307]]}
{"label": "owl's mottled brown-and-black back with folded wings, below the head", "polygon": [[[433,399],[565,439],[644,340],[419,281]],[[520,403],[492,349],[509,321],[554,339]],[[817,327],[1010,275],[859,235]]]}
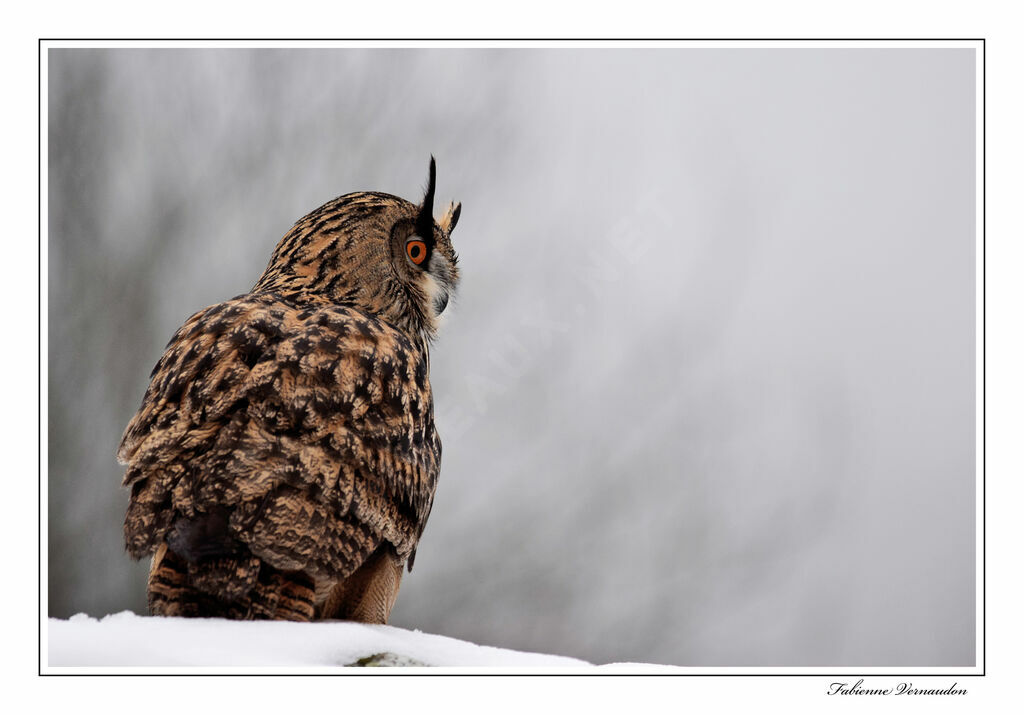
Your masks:
{"label": "owl's mottled brown-and-black back with folded wings, below the head", "polygon": [[383,541],[407,558],[440,461],[426,361],[353,308],[252,295],[197,313],[118,452],[129,552],[218,511],[231,538],[284,571],[344,578]]}

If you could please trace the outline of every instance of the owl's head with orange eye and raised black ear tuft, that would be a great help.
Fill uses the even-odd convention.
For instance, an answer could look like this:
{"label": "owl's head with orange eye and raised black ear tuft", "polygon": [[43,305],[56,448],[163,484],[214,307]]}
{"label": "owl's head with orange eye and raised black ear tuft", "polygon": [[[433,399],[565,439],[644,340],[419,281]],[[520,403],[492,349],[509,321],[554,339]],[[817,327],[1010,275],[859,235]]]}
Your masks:
{"label": "owl's head with orange eye and raised black ear tuft", "polygon": [[451,237],[462,211],[453,202],[434,220],[435,176],[431,157],[419,204],[360,192],[306,214],[278,244],[253,292],[351,305],[432,339],[459,282]]}

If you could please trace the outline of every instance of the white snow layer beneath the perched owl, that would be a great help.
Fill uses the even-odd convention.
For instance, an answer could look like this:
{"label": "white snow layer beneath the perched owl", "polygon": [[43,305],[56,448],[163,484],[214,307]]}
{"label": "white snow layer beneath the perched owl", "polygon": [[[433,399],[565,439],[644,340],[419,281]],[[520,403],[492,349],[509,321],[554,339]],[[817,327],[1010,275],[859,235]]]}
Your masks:
{"label": "white snow layer beneath the perched owl", "polygon": [[[483,666],[590,668],[586,661],[342,621],[150,618],[122,612],[48,621],[50,667]],[[359,663],[360,660],[367,659]]]}

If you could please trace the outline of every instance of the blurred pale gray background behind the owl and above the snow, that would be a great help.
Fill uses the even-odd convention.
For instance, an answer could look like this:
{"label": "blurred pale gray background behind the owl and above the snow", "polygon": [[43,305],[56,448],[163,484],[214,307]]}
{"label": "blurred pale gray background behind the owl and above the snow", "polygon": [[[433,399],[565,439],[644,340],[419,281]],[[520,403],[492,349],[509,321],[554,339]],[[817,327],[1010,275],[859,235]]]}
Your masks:
{"label": "blurred pale gray background behind the owl and above the snow", "polygon": [[357,190],[462,291],[392,623],[598,663],[975,663],[970,49],[50,50],[49,615],[144,613],[114,457]]}

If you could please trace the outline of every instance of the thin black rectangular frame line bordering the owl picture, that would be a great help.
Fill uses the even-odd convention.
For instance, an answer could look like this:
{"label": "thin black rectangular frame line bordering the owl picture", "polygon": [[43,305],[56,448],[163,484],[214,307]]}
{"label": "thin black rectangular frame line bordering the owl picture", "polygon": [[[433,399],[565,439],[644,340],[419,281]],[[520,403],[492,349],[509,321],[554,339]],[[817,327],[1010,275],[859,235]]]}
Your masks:
{"label": "thin black rectangular frame line bordering the owl picture", "polygon": [[[987,383],[986,383],[986,372],[985,372],[985,281],[986,281],[986,265],[985,265],[985,238],[987,232],[986,224],[986,199],[987,199],[987,164],[986,158],[986,140],[987,135],[985,131],[987,122],[987,112],[986,112],[986,84],[985,79],[988,72],[988,65],[985,55],[985,38],[965,38],[965,37],[888,37],[888,38],[864,38],[864,37],[773,37],[773,38],[758,38],[758,37],[550,37],[550,38],[530,38],[530,37],[348,37],[348,38],[309,38],[309,37],[246,37],[246,38],[228,38],[228,37],[206,37],[206,38],[182,38],[182,37],[40,37],[37,41],[37,56],[36,56],[36,75],[38,78],[38,103],[37,103],[37,121],[39,126],[37,128],[37,163],[39,174],[37,178],[38,182],[38,203],[37,203],[37,277],[39,279],[38,286],[38,299],[37,304],[37,339],[36,339],[36,352],[37,352],[37,414],[39,415],[37,424],[37,462],[38,462],[38,503],[37,503],[37,513],[39,515],[38,524],[38,535],[39,540],[36,544],[37,546],[37,569],[38,569],[38,581],[37,581],[37,616],[38,616],[38,643],[36,650],[36,662],[37,662],[37,675],[39,677],[154,677],[154,676],[169,676],[169,677],[380,677],[372,673],[361,672],[359,670],[349,670],[343,669],[339,670],[338,673],[225,673],[225,672],[207,672],[207,673],[52,673],[43,672],[43,609],[42,609],[42,594],[43,594],[43,572],[42,572],[42,553],[43,553],[43,453],[42,453],[42,310],[43,310],[43,254],[42,254],[42,240],[43,240],[43,221],[42,221],[42,211],[43,211],[43,171],[42,171],[42,161],[43,161],[43,127],[42,127],[42,116],[43,116],[43,43],[44,42],[196,42],[196,43],[207,43],[207,42],[225,42],[231,44],[244,43],[244,42],[539,42],[539,43],[552,43],[552,42],[883,42],[883,43],[896,43],[896,42],[980,42],[981,43],[981,127],[975,127],[977,132],[980,128],[981,130],[981,395],[975,395],[975,409],[977,411],[978,405],[977,399],[980,396],[981,399],[981,474],[975,474],[975,478],[981,477],[981,672],[980,673],[857,673],[857,672],[842,672],[842,673],[602,673],[600,671],[594,673],[558,673],[558,672],[523,672],[523,673],[510,673],[510,672],[480,672],[480,673],[410,673],[402,672],[402,669],[397,669],[393,672],[389,672],[388,676],[398,676],[398,677],[683,677],[683,678],[833,678],[833,677],[864,677],[864,678],[895,678],[895,677],[911,677],[911,678],[935,678],[935,677],[957,677],[957,678],[983,678],[986,676],[986,670],[988,668],[988,638],[987,638],[987,616],[988,611],[986,606],[986,550],[987,543],[985,540],[986,527],[987,527],[987,513],[986,513],[986,491],[985,491],[985,474],[986,474],[986,420],[987,420],[987,410],[988,405],[985,399]],[[131,49],[131,48],[126,48]],[[172,49],[172,48],[167,48]],[[188,49],[185,47],[184,49]],[[194,47],[191,49],[198,49]],[[265,48],[272,49],[272,48]],[[525,48],[525,49],[539,49],[536,47]],[[635,49],[635,48],[634,48]],[[737,48],[739,49],[739,48]],[[977,91],[977,90],[976,90]],[[977,134],[975,135],[975,141],[977,143]],[[976,179],[977,180],[977,179]],[[977,183],[975,184],[975,191],[977,192]],[[977,211],[977,206],[975,207]],[[975,218],[977,221],[977,216]],[[977,270],[977,263],[975,264]],[[975,286],[975,295],[978,295],[978,287]],[[977,331],[977,325],[975,326]],[[975,346],[977,348],[977,332],[975,333]],[[976,370],[978,366],[975,366]],[[977,438],[977,437],[976,437]],[[977,508],[977,507],[976,507]],[[977,607],[977,603],[975,606]],[[977,612],[976,612],[977,613]],[[977,656],[977,654],[975,654]],[[651,664],[653,666],[660,667],[662,664]],[[102,667],[102,666],[97,666]],[[132,666],[127,666],[132,667]],[[144,666],[140,666],[144,667]],[[169,667],[169,666],[168,666]],[[194,667],[203,666],[189,666],[191,669]],[[463,666],[457,666],[463,667]],[[687,668],[688,666],[678,666],[679,668]],[[742,667],[742,666],[741,666]],[[785,666],[783,666],[785,667]],[[809,666],[811,667],[811,666]],[[886,666],[878,666],[886,667]],[[480,667],[483,670],[486,667]]]}

